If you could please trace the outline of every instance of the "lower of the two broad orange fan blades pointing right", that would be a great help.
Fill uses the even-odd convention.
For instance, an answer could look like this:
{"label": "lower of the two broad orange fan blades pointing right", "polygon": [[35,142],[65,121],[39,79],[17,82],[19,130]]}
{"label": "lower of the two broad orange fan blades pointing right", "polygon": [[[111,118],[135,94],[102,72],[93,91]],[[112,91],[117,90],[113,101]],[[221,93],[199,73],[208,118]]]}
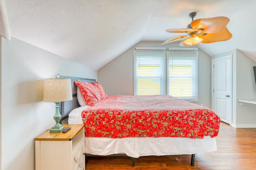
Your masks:
{"label": "lower of the two broad orange fan blades pointing right", "polygon": [[198,34],[198,37],[204,39],[202,41],[202,43],[215,43],[218,41],[229,40],[230,38],[232,38],[232,34],[226,28],[224,31],[219,32],[219,33],[211,33],[211,34],[207,34],[204,36]]}

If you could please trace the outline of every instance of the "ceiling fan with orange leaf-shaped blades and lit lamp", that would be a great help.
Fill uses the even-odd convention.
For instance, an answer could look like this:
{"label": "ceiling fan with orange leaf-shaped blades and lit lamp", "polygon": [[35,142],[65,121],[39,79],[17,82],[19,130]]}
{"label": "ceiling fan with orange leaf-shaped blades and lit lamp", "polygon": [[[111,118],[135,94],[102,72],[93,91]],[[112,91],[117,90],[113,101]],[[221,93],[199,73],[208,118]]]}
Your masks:
{"label": "ceiling fan with orange leaf-shaped blades and lit lamp", "polygon": [[192,21],[188,24],[187,28],[166,29],[168,33],[186,33],[187,35],[172,37],[171,39],[164,41],[162,44],[172,43],[189,36],[180,43],[180,46],[194,47],[201,42],[215,43],[218,41],[227,41],[232,37],[232,34],[226,27],[230,21],[227,17],[219,16],[194,20],[196,12],[192,12],[188,16],[192,18]]}

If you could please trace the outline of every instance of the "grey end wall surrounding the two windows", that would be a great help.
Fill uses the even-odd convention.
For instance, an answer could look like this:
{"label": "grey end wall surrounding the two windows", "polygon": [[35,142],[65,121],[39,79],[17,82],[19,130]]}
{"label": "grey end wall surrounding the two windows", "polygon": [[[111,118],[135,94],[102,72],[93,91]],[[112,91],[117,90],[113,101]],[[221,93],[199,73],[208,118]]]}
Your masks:
{"label": "grey end wall surrounding the two windows", "polygon": [[[134,95],[134,50],[136,47],[180,47],[179,43],[140,42],[98,70],[98,81],[109,95]],[[211,108],[211,58],[198,48],[198,102]]]}

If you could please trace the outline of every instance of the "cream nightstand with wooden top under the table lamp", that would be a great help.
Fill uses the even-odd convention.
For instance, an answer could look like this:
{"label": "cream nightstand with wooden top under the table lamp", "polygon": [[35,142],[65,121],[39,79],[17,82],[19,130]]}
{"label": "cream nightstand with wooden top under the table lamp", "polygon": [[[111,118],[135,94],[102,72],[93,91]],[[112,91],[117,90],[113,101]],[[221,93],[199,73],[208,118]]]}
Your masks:
{"label": "cream nightstand with wooden top under the table lamp", "polygon": [[36,137],[36,170],[84,170],[84,125],[71,127],[66,133],[46,131]]}

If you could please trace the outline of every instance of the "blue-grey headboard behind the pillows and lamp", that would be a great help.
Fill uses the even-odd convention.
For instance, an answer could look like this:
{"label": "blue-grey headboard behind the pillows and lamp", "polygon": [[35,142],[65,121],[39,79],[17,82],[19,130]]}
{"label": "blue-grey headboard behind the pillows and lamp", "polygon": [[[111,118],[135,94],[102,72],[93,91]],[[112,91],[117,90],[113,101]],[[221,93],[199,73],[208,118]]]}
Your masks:
{"label": "blue-grey headboard behind the pillows and lamp", "polygon": [[84,81],[84,82],[96,82],[96,80],[90,79],[90,78],[62,76],[60,74],[57,74],[56,77],[71,79],[72,100],[60,103],[60,114],[61,114],[60,123],[62,123],[62,121],[67,123],[67,118],[68,118],[68,114],[70,113],[70,111],[72,111],[73,109],[75,109],[77,107],[80,107],[80,105],[78,104],[78,101],[76,99],[77,86],[74,83],[74,81],[80,80],[80,81]]}

